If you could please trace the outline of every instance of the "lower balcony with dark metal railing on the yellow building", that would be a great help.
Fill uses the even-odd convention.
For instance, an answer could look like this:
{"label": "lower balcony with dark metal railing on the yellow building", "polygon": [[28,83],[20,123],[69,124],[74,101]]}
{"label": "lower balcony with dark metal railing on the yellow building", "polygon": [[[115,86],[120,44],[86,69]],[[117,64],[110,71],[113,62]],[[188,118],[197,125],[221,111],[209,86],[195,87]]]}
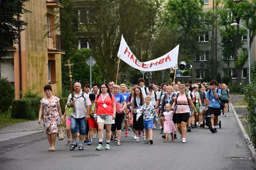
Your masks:
{"label": "lower balcony with dark metal railing on the yellow building", "polygon": [[48,54],[65,54],[61,35],[48,34]]}

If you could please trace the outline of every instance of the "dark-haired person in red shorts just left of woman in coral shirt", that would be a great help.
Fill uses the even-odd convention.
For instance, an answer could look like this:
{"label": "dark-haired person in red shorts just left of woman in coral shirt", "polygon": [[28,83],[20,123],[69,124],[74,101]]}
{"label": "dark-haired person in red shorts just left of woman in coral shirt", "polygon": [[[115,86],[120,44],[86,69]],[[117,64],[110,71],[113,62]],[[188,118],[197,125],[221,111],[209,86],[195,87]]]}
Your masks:
{"label": "dark-haired person in red shorts just left of woman in coral shirt", "polygon": [[90,141],[87,143],[87,145],[92,145],[93,144],[93,129],[96,128],[96,130],[98,131],[98,125],[97,123],[94,121],[93,115],[94,115],[94,107],[95,107],[95,94],[91,93],[89,94],[89,99],[91,100],[92,106],[91,106],[91,110],[90,110],[90,114],[89,116],[89,136],[90,136]]}

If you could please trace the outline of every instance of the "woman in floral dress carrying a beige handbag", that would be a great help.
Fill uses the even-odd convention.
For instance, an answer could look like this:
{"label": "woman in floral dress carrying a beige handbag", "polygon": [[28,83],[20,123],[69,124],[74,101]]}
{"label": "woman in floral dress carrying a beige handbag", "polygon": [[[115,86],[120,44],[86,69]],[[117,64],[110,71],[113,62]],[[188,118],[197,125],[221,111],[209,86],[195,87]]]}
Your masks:
{"label": "woman in floral dress carrying a beige handbag", "polygon": [[62,121],[59,98],[52,95],[52,86],[44,86],[44,97],[40,102],[38,123],[41,124],[41,116],[43,115],[44,134],[47,135],[50,148],[47,151],[55,151],[55,140],[58,133],[57,123]]}

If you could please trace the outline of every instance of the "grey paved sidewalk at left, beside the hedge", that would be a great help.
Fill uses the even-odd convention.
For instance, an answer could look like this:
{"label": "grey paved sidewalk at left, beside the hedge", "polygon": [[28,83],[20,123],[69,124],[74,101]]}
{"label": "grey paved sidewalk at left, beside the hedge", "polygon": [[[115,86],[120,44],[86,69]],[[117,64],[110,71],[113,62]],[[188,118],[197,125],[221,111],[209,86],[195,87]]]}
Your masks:
{"label": "grey paved sidewalk at left, beside the hedge", "polygon": [[44,127],[37,120],[6,125],[0,129],[0,142],[42,131]]}

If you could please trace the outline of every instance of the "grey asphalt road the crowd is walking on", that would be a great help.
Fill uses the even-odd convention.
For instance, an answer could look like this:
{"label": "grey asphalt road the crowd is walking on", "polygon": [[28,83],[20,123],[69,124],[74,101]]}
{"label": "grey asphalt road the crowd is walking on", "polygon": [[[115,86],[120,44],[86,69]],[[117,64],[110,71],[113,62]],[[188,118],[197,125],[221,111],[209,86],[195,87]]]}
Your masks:
{"label": "grey asphalt road the crowd is walking on", "polygon": [[[222,129],[218,129],[218,133],[212,134],[209,129],[192,129],[186,144],[179,140],[164,143],[160,130],[154,130],[153,145],[135,143],[132,137],[123,137],[121,146],[111,143],[108,151],[95,151],[96,144],[86,145],[84,151],[68,151],[64,139],[56,141],[56,152],[47,152],[47,138],[43,132],[35,133],[0,142],[0,169],[255,170],[256,166],[250,159],[252,154],[235,117],[231,113],[228,115],[220,117]],[[85,158],[72,157],[77,155]]]}

